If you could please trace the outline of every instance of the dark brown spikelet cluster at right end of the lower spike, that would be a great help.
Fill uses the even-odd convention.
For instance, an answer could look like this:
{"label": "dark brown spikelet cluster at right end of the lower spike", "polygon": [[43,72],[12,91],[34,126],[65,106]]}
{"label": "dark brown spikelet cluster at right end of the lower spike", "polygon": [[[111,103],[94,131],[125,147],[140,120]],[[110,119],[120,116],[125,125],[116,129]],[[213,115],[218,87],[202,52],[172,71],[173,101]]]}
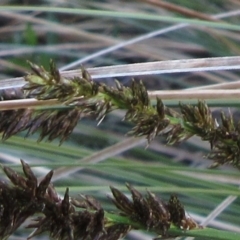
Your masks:
{"label": "dark brown spikelet cluster at right end of the lower spike", "polygon": [[166,237],[171,224],[183,230],[199,227],[192,218],[185,214],[184,207],[176,196],[171,196],[168,202],[164,202],[151,192],[142,196],[131,185],[127,184],[127,188],[132,194],[132,201],[121,191],[111,187],[114,196],[112,201],[123,215],[138,222],[147,230]]}

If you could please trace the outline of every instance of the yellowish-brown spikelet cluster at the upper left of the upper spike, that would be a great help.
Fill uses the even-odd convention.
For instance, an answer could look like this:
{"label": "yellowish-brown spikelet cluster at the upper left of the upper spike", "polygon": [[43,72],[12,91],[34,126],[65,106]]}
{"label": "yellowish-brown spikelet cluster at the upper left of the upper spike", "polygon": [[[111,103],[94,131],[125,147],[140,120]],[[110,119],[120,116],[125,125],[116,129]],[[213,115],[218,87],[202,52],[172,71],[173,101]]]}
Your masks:
{"label": "yellowish-brown spikelet cluster at the upper left of the upper spike", "polygon": [[28,74],[28,82],[23,87],[25,94],[39,100],[58,99],[71,103],[74,98],[92,97],[98,92],[98,85],[94,83],[85,69],[81,77],[72,79],[61,76],[53,61],[50,62],[50,72],[43,67],[29,62],[33,74]]}

